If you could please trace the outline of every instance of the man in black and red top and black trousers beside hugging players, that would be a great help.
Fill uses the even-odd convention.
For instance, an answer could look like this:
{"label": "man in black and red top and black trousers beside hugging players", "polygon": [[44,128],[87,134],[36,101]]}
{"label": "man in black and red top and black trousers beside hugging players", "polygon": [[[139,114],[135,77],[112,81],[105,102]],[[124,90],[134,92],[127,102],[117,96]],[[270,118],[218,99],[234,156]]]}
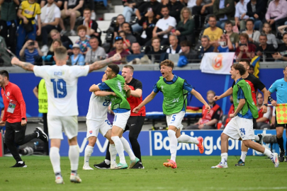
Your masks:
{"label": "man in black and red top and black trousers beside hugging players", "polygon": [[[130,118],[128,118],[127,125],[125,127],[125,131],[130,130],[129,139],[130,144],[132,145],[133,153],[137,158],[140,159],[140,162],[135,164],[133,168],[144,168],[142,166],[142,155],[140,153],[140,144],[137,141],[137,137],[139,136],[142,125],[145,122],[145,106],[140,109],[138,113],[134,113],[133,108],[137,107],[142,103],[142,82],[133,78],[133,66],[125,65],[123,66],[122,76],[125,79],[125,90],[130,89],[131,96],[128,98],[128,103],[130,103]],[[110,144],[108,144],[108,147]],[[99,169],[108,169],[111,166],[111,156],[108,151],[108,147],[106,149],[106,159],[99,164],[95,164],[95,168]]]}

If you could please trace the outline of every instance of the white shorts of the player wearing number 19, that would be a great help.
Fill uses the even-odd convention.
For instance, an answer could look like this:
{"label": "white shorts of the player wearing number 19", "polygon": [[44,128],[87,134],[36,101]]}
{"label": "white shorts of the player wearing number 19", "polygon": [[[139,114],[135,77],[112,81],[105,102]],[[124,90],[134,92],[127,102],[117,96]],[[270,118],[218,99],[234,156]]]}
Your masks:
{"label": "white shorts of the player wearing number 19", "polygon": [[49,139],[63,139],[62,132],[72,139],[78,135],[78,118],[77,116],[54,116],[47,115],[47,125]]}

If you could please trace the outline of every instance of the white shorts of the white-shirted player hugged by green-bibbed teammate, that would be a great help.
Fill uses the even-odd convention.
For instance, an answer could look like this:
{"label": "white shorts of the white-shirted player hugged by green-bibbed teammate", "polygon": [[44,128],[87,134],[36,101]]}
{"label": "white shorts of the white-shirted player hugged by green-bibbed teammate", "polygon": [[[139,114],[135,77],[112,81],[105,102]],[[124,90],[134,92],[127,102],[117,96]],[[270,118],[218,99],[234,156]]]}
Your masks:
{"label": "white shorts of the white-shirted player hugged by green-bibbed teammate", "polygon": [[105,137],[108,130],[112,128],[108,118],[101,121],[86,120],[86,127],[86,139],[98,137],[99,132]]}

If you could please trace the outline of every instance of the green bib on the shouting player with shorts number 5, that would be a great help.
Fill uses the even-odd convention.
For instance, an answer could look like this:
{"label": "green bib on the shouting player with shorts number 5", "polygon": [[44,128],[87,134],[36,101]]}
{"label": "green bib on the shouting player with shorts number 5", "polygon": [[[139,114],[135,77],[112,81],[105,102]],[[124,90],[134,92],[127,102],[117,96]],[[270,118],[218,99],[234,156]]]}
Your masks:
{"label": "green bib on the shouting player with shorts number 5", "polygon": [[177,77],[172,84],[167,84],[164,78],[159,77],[157,81],[157,89],[164,94],[164,102],[162,103],[162,110],[164,115],[171,115],[180,112],[187,105],[188,91],[184,90],[184,79]]}

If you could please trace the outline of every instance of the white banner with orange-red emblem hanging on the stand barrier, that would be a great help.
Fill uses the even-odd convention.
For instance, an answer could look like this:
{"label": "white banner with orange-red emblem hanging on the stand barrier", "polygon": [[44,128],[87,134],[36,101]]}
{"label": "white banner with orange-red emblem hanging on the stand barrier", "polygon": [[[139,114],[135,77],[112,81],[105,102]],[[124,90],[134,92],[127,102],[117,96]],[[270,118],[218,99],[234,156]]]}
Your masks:
{"label": "white banner with orange-red emblem hanging on the stand barrier", "polygon": [[211,74],[230,74],[235,52],[208,52],[201,59],[201,72]]}

